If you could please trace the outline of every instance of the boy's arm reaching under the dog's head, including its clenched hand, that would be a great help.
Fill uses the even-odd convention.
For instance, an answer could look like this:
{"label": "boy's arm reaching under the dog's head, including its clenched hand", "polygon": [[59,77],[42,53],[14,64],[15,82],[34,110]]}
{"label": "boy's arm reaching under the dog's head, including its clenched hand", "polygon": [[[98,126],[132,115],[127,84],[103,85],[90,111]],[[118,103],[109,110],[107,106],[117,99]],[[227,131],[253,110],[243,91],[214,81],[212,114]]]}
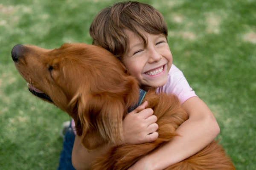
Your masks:
{"label": "boy's arm reaching under the dog's head, including its clenched hand", "polygon": [[[124,141],[128,144],[140,144],[145,142],[153,142],[157,139],[158,125],[157,117],[153,115],[153,110],[147,108],[148,102],[144,102],[136,108],[123,120]],[[76,135],[72,150],[72,164],[76,170],[90,169],[90,163],[106,153],[111,148],[110,144],[106,144],[96,150],[88,151],[81,144],[81,136]]]}

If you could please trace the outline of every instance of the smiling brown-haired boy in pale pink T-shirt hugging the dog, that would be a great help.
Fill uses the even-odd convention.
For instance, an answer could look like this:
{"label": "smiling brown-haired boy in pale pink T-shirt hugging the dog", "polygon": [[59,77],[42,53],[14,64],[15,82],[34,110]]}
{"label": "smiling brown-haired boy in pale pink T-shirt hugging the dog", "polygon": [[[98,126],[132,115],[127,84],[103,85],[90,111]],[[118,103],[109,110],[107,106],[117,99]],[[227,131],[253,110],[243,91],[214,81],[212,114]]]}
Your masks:
{"label": "smiling brown-haired boy in pale pink T-shirt hugging the dog", "polygon": [[[195,95],[182,72],[172,65],[167,44],[167,26],[152,6],[139,2],[116,3],[103,9],[93,20],[93,44],[111,51],[140,82],[141,88],[176,94],[189,119],[177,129],[180,136],[137,161],[129,170],[163,170],[206,147],[219,133],[207,105]],[[168,103],[166,103],[168,105]],[[158,137],[156,117],[144,102],[123,120],[125,143],[153,142]],[[95,156],[110,145],[88,152],[76,136],[72,163],[77,170],[88,169]]]}

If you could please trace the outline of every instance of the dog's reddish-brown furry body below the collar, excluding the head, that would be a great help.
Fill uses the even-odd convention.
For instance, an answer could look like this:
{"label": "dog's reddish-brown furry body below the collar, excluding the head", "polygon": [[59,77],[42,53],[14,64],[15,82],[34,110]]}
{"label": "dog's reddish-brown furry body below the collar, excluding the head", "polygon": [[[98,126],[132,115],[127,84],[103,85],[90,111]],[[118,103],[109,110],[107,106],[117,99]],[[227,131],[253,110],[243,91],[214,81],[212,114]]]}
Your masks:
{"label": "dog's reddish-brown furry body below the collar, excluding the head", "polygon": [[[145,96],[148,107],[154,110],[159,126],[159,137],[156,141],[145,144],[123,144],[114,147],[111,152],[93,162],[93,170],[126,170],[136,161],[152,151],[157,150],[172,137],[184,121],[188,119],[187,113],[180,107],[180,102],[175,95],[155,94],[149,91]],[[235,170],[230,158],[224,149],[213,141],[204,150],[179,163],[173,164],[166,170]]]}

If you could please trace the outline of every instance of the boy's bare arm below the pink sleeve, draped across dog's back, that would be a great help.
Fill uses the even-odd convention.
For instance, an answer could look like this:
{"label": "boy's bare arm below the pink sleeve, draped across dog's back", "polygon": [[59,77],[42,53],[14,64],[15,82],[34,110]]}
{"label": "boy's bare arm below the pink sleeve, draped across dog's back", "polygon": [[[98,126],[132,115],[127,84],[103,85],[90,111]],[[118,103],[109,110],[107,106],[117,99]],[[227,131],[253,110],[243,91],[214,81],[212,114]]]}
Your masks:
{"label": "boy's bare arm below the pink sleeve, draped across dog's back", "polygon": [[129,170],[163,170],[198,153],[215,139],[220,132],[218,123],[201,99],[191,97],[181,106],[189,119],[176,130],[180,136],[140,159]]}

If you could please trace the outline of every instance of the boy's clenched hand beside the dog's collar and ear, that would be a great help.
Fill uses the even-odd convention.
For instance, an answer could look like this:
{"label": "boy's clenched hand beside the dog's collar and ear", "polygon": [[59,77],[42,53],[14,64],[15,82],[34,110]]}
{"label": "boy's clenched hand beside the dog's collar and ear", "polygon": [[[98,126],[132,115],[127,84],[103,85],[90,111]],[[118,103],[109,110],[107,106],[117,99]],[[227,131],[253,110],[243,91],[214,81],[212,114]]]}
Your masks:
{"label": "boy's clenched hand beside the dog's collar and ear", "polygon": [[145,101],[134,111],[128,113],[123,120],[124,142],[126,144],[142,144],[154,142],[158,133],[157,116],[153,115],[153,110],[147,108]]}

